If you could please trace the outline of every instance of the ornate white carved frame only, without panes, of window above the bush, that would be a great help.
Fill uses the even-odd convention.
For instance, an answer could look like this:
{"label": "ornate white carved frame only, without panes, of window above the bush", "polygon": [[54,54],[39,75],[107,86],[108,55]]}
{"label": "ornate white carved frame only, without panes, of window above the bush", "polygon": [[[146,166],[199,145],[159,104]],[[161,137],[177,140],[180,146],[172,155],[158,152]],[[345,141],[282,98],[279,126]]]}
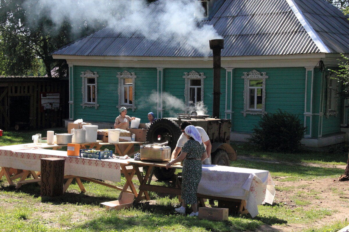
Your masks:
{"label": "ornate white carved frame only, without panes, of window above the bush", "polygon": [[[268,76],[266,75],[266,72],[258,72],[256,70],[252,70],[251,72],[244,72],[244,75],[241,77],[244,79],[244,110],[241,111],[240,113],[244,114],[244,117],[246,117],[246,114],[261,114],[262,116],[267,114],[265,111],[265,97],[266,97],[266,92],[265,92],[265,85],[266,85],[266,79]],[[249,87],[249,80],[263,80],[262,83],[262,109],[261,110],[250,110],[248,109],[248,101],[249,101],[249,96],[247,96],[248,93],[248,87]]]}

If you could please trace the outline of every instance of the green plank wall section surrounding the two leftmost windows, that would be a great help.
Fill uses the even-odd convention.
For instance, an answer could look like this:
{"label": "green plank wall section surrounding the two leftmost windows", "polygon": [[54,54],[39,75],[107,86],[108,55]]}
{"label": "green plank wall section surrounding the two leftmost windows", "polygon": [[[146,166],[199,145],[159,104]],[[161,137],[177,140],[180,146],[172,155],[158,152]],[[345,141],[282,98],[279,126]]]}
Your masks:
{"label": "green plank wall section surrounding the two leftmost windows", "polygon": [[[120,114],[118,106],[118,72],[134,72],[135,78],[135,111],[128,110],[127,115],[141,119],[141,123],[148,122],[148,113],[156,113],[156,98],[151,95],[157,91],[157,70],[154,68],[116,68],[116,67],[91,67],[74,66],[74,115],[73,118],[84,121],[114,122]],[[82,78],[81,72],[97,72],[97,103],[98,108],[87,107],[82,103]]]}

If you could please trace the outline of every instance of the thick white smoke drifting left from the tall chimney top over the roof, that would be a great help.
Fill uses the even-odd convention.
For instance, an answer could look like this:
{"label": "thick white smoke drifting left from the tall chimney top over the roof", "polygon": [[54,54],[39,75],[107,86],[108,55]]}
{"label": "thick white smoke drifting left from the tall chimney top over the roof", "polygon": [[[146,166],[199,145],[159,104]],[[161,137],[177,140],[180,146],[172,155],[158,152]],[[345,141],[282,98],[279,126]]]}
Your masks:
{"label": "thick white smoke drifting left from the tall chimney top over the roof", "polygon": [[[89,26],[106,23],[117,32],[129,36],[138,31],[133,36],[161,40],[166,46],[178,48],[185,42],[204,56],[210,54],[209,40],[221,39],[212,25],[198,26],[204,9],[196,0],[159,0],[149,7],[145,0],[26,0],[24,7],[33,23],[49,16],[53,29],[65,21]],[[153,11],[154,7],[160,10]]]}

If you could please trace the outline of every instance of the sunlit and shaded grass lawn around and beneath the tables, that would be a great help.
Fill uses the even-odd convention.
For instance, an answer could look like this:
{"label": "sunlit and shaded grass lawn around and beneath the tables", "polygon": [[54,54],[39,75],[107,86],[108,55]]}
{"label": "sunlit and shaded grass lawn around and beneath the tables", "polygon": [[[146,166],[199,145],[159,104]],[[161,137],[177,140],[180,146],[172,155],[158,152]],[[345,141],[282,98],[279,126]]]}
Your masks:
{"label": "sunlit and shaded grass lawn around and beneath the tables", "polygon": [[[53,129],[54,130],[54,129]],[[57,131],[57,132],[56,132]],[[0,145],[30,143],[31,135],[43,134],[46,131],[4,131]],[[66,129],[57,129],[55,133],[66,133]],[[231,166],[269,170],[276,184],[274,204],[258,206],[259,215],[229,216],[228,221],[208,221],[178,215],[173,208],[179,206],[175,195],[162,195],[149,192],[150,201],[134,203],[134,207],[125,210],[106,211],[101,202],[117,199],[120,191],[83,182],[86,193],[81,193],[76,183],[69,186],[63,197],[51,200],[40,197],[40,187],[25,184],[20,189],[9,186],[6,178],[0,181],[0,231],[21,232],[97,232],[97,231],[304,231],[331,232],[337,231],[349,223],[344,218],[328,221],[313,226],[316,221],[325,220],[338,213],[335,207],[324,207],[327,199],[315,183],[338,178],[344,170],[335,167],[313,167],[303,163],[324,165],[346,165],[348,152],[345,145],[335,149],[318,151],[302,150],[295,154],[270,153],[255,150],[251,144],[232,144],[237,150],[238,160]],[[239,159],[239,155],[248,155],[256,160]],[[257,160],[258,158],[258,160]],[[275,161],[275,162],[270,162]],[[292,163],[293,162],[293,163]],[[294,163],[297,162],[297,163]],[[123,186],[126,179],[122,176]],[[138,179],[134,179],[138,185]],[[171,185],[172,182],[152,182],[158,185]],[[326,189],[328,197],[341,202],[348,210],[348,184],[343,188],[335,186]],[[216,202],[217,204],[217,202]],[[346,208],[347,207],[347,208]],[[293,225],[297,225],[292,227]],[[303,229],[300,228],[303,225]],[[307,226],[309,225],[309,226]],[[310,226],[312,225],[312,226]],[[291,227],[291,229],[290,229]]]}

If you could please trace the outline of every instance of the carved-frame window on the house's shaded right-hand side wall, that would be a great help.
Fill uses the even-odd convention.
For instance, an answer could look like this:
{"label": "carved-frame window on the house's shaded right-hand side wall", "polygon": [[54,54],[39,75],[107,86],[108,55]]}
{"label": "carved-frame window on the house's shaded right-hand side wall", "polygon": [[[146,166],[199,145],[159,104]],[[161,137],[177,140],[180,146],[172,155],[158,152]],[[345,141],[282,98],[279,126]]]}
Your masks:
{"label": "carved-frame window on the house's shaded right-hand side wall", "polygon": [[[329,118],[330,115],[334,115],[334,117],[337,117],[338,113],[338,93],[339,93],[339,85],[338,81],[334,78],[336,77],[336,74],[333,72],[329,72],[327,74],[327,94],[326,94],[326,118]],[[333,101],[334,105],[330,104]]]}

